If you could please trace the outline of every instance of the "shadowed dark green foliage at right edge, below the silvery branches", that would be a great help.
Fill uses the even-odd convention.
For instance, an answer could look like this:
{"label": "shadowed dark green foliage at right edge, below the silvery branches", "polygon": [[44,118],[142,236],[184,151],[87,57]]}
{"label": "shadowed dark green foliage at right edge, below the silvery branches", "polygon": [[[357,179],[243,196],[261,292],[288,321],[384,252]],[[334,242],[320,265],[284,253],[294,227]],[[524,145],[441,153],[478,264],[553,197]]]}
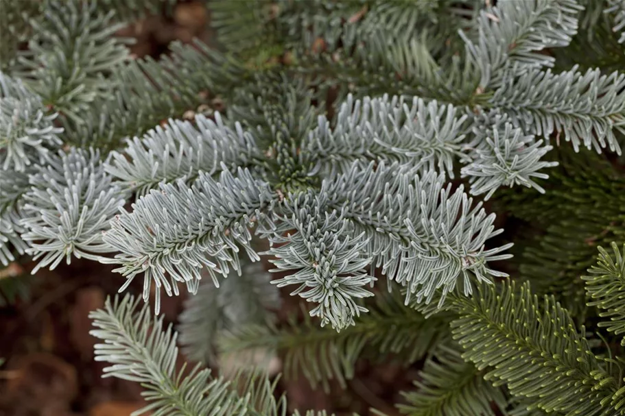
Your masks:
{"label": "shadowed dark green foliage at right edge, below the silvery branches", "polygon": [[583,319],[581,276],[593,264],[598,245],[625,236],[625,175],[590,151],[575,154],[564,149],[552,158],[560,166],[541,182],[545,197],[523,189],[506,193],[499,204],[534,230],[526,241],[519,241],[521,278],[532,282],[535,293],[554,293]]}

